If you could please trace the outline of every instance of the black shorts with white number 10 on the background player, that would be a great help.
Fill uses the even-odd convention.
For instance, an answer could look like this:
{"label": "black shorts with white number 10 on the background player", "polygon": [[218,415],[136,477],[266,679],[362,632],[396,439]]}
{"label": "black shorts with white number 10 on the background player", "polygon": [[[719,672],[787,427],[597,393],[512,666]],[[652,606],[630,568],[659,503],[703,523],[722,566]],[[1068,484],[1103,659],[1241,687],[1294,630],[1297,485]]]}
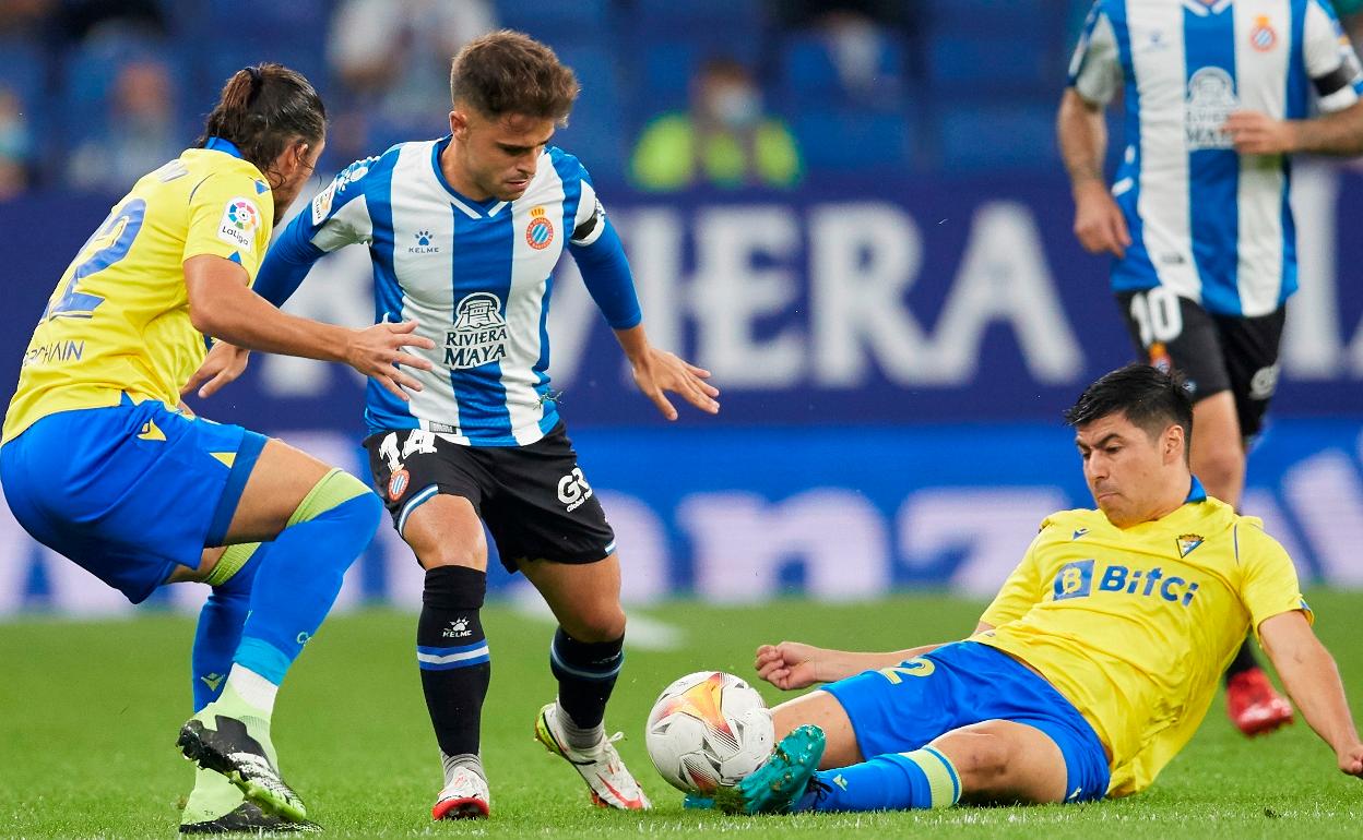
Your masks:
{"label": "black shorts with white number 10 on the background player", "polygon": [[1145,361],[1182,373],[1194,403],[1231,391],[1244,437],[1264,427],[1277,389],[1285,306],[1259,317],[1210,314],[1163,286],[1116,298]]}

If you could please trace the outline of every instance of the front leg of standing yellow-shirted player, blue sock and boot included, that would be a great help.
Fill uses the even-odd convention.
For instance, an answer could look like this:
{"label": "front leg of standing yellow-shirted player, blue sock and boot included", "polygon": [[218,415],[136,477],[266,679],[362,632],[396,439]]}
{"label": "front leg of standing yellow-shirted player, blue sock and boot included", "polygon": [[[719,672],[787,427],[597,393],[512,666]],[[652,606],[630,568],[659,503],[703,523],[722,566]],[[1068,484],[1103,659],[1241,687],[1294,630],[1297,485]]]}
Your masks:
{"label": "front leg of standing yellow-shirted player, blue sock and boot included", "polygon": [[[256,438],[259,440],[259,438]],[[245,447],[245,445],[244,445]],[[244,452],[245,449],[243,449]],[[237,464],[245,456],[237,453]],[[222,551],[206,551],[181,577],[214,583],[236,550],[249,576],[241,643],[221,694],[181,727],[179,746],[200,768],[228,777],[267,815],[303,821],[301,799],[284,781],[270,739],[274,697],[285,671],[330,610],[345,569],[376,526],[378,500],[353,476],[279,441],[264,441],[226,530]],[[256,560],[232,543],[275,540]],[[222,583],[232,583],[224,580]],[[215,588],[217,591],[217,588]]]}

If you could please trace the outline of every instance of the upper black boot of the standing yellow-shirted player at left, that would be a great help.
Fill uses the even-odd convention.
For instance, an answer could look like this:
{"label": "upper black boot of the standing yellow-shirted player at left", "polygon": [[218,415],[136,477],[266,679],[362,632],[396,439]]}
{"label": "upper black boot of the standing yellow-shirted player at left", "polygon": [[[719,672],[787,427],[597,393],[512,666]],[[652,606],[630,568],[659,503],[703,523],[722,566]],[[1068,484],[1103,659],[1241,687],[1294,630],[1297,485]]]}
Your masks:
{"label": "upper black boot of the standing yellow-shirted player at left", "polygon": [[303,822],[308,815],[303,799],[279,776],[260,742],[247,731],[247,724],[226,715],[213,717],[217,730],[210,730],[198,717],[180,727],[176,745],[184,757],[206,771],[226,776],[263,813]]}

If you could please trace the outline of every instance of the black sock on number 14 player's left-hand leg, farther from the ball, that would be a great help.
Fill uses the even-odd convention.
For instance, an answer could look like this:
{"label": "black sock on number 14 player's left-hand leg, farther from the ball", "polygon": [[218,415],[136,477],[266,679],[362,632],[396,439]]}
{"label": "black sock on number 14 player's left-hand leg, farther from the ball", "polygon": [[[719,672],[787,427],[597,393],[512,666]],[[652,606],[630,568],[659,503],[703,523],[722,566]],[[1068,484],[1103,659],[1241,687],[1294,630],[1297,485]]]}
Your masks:
{"label": "black sock on number 14 player's left-hand leg, farther from the ball", "polygon": [[492,662],[478,610],[488,573],[465,566],[427,572],[417,622],[417,666],[435,738],[446,756],[477,754]]}

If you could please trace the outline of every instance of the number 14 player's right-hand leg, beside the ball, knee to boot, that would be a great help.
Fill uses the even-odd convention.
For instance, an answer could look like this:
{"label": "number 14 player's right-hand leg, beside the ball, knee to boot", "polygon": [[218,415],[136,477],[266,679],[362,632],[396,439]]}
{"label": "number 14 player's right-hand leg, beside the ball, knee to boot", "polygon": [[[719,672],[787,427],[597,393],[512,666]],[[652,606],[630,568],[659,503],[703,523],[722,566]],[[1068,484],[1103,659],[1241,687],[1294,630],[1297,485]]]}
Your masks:
{"label": "number 14 player's right-hand leg, beside the ball, knee to boot", "polygon": [[540,709],[536,739],[572,765],[597,806],[650,807],[615,749],[623,735],[607,738],[602,723],[623,659],[620,558],[612,553],[592,564],[522,560],[517,565],[559,619],[551,647],[559,698]]}

